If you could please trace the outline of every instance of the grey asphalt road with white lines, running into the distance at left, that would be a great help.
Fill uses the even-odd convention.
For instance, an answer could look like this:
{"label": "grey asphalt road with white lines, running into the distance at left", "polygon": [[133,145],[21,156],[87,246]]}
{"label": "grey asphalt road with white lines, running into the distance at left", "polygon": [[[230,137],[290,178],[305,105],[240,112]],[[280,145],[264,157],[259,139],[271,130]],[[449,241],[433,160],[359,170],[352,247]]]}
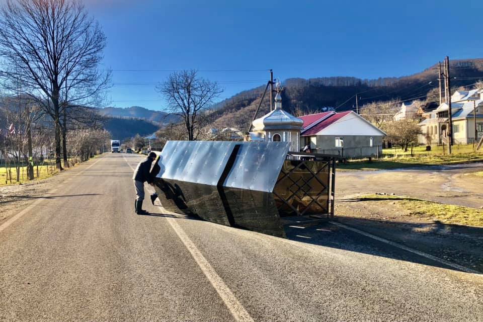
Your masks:
{"label": "grey asphalt road with white lines, running into the distance at left", "polygon": [[139,160],[69,170],[0,224],[0,320],[483,320],[482,275],[334,225],[281,239],[147,203],[136,215]]}

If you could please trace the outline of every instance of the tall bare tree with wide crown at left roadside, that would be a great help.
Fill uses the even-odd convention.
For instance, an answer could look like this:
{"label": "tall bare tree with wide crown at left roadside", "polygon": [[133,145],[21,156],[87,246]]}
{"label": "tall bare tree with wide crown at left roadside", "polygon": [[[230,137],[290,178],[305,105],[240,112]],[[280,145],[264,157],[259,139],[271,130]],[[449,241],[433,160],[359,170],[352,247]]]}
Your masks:
{"label": "tall bare tree with wide crown at left roadside", "polygon": [[98,102],[109,85],[110,71],[98,69],[105,46],[79,0],[7,0],[0,10],[2,76],[21,83],[52,118],[59,170],[64,111]]}

